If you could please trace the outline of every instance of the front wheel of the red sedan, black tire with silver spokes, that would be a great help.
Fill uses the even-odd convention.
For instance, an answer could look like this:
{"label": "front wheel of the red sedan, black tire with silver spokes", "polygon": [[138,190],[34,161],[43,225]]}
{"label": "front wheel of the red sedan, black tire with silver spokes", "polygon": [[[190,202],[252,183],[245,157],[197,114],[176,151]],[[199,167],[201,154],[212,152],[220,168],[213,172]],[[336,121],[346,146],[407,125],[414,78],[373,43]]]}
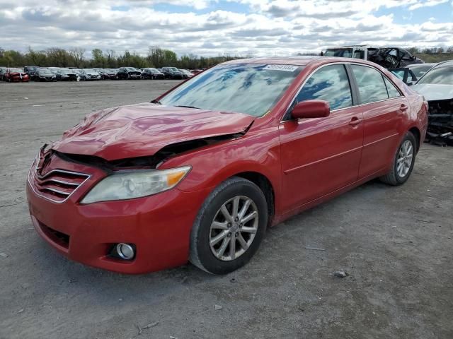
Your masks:
{"label": "front wheel of the red sedan, black tire with silver spokes", "polygon": [[[256,212],[256,218],[239,224],[240,220],[227,220],[220,210],[226,206],[229,215],[234,218],[234,200],[239,198],[238,216],[250,217]],[[248,200],[251,203],[248,203]],[[248,203],[248,207],[242,208]],[[222,219],[224,219],[222,221]],[[222,229],[211,228],[212,224],[222,225]],[[268,225],[268,203],[263,191],[256,184],[240,177],[231,177],[217,186],[206,198],[195,219],[190,232],[190,256],[193,265],[212,274],[230,273],[244,266],[258,251],[260,242],[263,240]],[[247,229],[247,230],[246,230]],[[255,230],[253,233],[251,230]],[[250,233],[249,233],[250,232]],[[226,237],[224,237],[224,234]],[[240,235],[238,235],[240,234]],[[238,237],[236,237],[238,235]],[[210,242],[218,239],[219,242],[210,246]],[[231,243],[234,239],[234,249],[231,251]],[[222,247],[226,243],[223,254]],[[245,249],[241,244],[246,244]],[[214,254],[216,251],[217,254]],[[234,256],[231,256],[234,253]]]}

